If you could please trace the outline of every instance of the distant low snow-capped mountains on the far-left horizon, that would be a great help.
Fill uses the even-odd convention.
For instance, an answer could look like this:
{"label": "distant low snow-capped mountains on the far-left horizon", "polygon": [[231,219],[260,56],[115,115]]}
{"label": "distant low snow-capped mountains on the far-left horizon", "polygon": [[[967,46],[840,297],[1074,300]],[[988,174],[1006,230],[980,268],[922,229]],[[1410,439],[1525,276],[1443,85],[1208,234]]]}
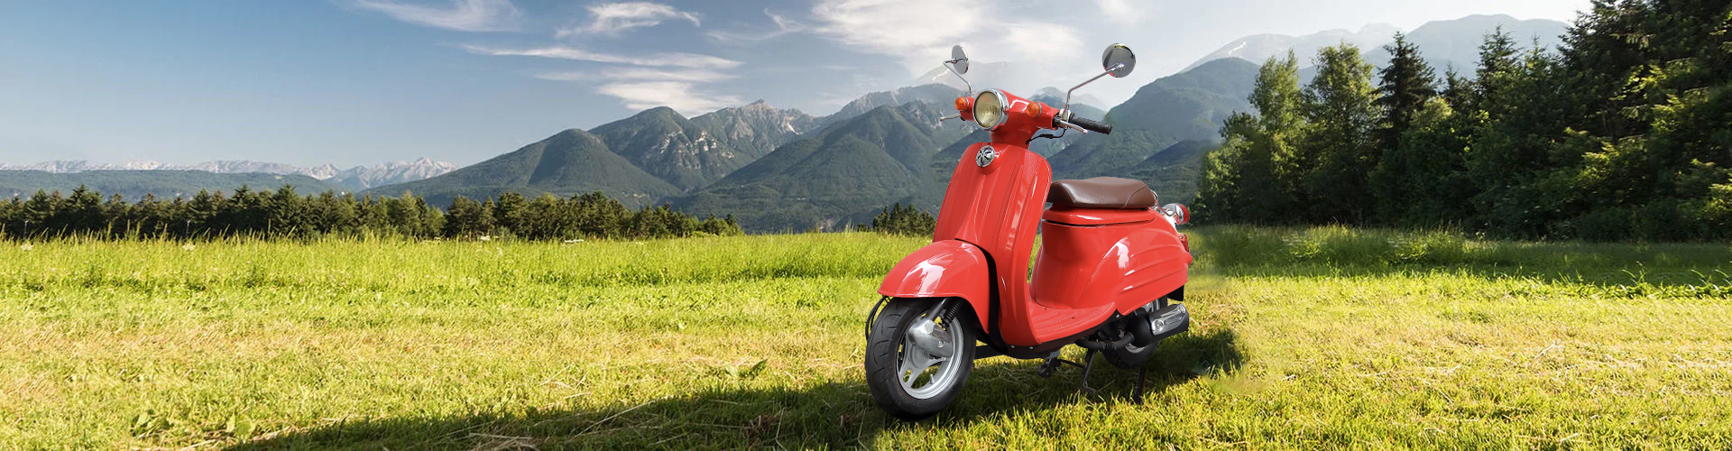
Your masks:
{"label": "distant low snow-capped mountains on the far-left horizon", "polygon": [[[308,179],[319,180],[319,186],[326,186],[334,191],[362,191],[376,186],[421,180],[452,170],[457,170],[457,165],[445,161],[433,161],[428,158],[421,158],[416,161],[388,161],[372,167],[352,167],[352,168],[338,168],[334,165],[293,167],[284,163],[246,161],[246,160],[218,160],[197,165],[165,165],[149,160],[125,161],[120,165],[90,163],[85,160],[57,160],[57,161],[43,161],[33,165],[0,163],[0,186],[17,186],[24,179],[38,182],[45,180],[50,182],[50,186],[64,186],[64,182],[59,182],[55,179],[68,179],[68,180],[76,179],[76,177],[50,177],[45,173],[145,172],[126,177],[126,179],[144,180],[151,177],[185,179],[189,172],[208,172],[208,173],[305,175]],[[35,173],[26,177],[23,173],[14,173],[14,172],[43,172],[43,173]],[[197,180],[227,180],[227,179],[201,177]],[[262,177],[262,180],[275,180],[275,179]],[[189,182],[192,180],[165,180],[165,186],[187,186]],[[73,186],[76,187],[76,184]],[[234,189],[236,186],[215,186],[215,187]]]}

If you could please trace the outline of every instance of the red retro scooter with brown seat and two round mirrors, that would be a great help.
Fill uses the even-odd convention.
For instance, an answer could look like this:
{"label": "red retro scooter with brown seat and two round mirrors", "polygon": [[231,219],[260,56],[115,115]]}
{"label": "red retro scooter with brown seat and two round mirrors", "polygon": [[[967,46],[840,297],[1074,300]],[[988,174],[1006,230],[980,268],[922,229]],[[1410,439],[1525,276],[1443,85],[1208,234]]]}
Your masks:
{"label": "red retro scooter with brown seat and two round mirrors", "polygon": [[[1136,56],[1115,43],[1102,66],[1105,73],[1082,85],[1129,75]],[[960,45],[946,68],[958,78],[968,71]],[[951,118],[991,130],[992,141],[963,153],[932,245],[885,276],[866,323],[866,385],[892,416],[937,415],[961,392],[973,361],[994,356],[1044,359],[1036,369],[1043,378],[1060,364],[1082,368],[1079,389],[1093,392],[1095,354],[1140,368],[1162,338],[1190,328],[1185,305],[1173,304],[1185,300],[1192,264],[1176,229],[1190,212],[1157,208],[1155,193],[1138,180],[1051,180],[1046,160],[1029,151],[1034,139],[1067,130],[1112,134],[1112,125],[1072,116],[1069,99],[1063,108],[1003,90],[956,99],[960,114]],[[1041,130],[1058,135],[1036,137]],[[1036,236],[1041,253],[1031,272]],[[1072,343],[1088,349],[1082,363],[1058,357]]]}

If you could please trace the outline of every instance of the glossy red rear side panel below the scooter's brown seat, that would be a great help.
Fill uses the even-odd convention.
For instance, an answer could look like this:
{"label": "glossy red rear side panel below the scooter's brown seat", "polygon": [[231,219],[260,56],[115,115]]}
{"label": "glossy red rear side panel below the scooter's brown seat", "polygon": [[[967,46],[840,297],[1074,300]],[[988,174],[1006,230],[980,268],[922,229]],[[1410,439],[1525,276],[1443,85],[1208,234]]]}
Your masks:
{"label": "glossy red rear side panel below the scooter's brown seat", "polygon": [[1129,312],[1179,286],[1190,252],[1166,220],[1077,227],[1043,224],[1034,300],[1051,309]]}

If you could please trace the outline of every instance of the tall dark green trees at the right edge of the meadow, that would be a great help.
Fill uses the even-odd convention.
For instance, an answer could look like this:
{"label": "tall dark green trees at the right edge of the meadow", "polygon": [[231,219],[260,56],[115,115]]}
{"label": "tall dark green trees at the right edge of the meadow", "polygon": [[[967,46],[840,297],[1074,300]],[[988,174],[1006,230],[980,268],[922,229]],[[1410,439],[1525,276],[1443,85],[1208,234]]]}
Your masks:
{"label": "tall dark green trees at the right edge of the meadow", "polygon": [[1199,217],[1732,239],[1729,31],[1723,0],[1595,0],[1555,50],[1484,36],[1470,76],[1438,76],[1399,33],[1375,71],[1322,49],[1302,87],[1271,57],[1204,161]]}

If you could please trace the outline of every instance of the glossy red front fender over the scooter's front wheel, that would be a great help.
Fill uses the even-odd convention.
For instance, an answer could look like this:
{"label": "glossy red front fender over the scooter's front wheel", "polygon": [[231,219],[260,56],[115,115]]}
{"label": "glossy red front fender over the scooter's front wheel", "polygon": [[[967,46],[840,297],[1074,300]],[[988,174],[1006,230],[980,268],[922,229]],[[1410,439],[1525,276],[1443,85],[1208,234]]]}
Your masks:
{"label": "glossy red front fender over the scooter's front wheel", "polygon": [[937,241],[902,257],[883,276],[878,293],[895,298],[958,297],[973,305],[975,317],[986,324],[987,302],[992,300],[989,269],[979,246],[956,239]]}

